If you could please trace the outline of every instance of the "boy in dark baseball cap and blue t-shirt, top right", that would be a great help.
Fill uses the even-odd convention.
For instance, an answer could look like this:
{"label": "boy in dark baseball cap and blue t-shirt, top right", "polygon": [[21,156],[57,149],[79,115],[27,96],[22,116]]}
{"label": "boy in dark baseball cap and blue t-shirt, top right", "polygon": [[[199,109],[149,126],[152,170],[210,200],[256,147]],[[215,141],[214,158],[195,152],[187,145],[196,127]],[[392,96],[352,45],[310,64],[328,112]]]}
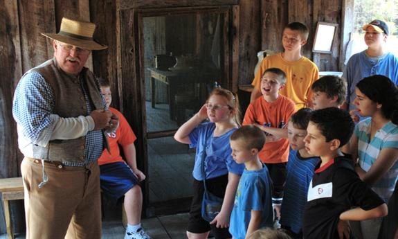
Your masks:
{"label": "boy in dark baseball cap and blue t-shirt, top right", "polygon": [[[356,53],[347,62],[342,78],[347,80],[347,109],[354,110],[355,86],[359,80],[373,75],[387,76],[398,84],[398,57],[389,53],[386,47],[388,25],[386,22],[374,19],[362,27],[365,31],[365,43],[368,48]],[[352,112],[353,114],[354,112]]]}

